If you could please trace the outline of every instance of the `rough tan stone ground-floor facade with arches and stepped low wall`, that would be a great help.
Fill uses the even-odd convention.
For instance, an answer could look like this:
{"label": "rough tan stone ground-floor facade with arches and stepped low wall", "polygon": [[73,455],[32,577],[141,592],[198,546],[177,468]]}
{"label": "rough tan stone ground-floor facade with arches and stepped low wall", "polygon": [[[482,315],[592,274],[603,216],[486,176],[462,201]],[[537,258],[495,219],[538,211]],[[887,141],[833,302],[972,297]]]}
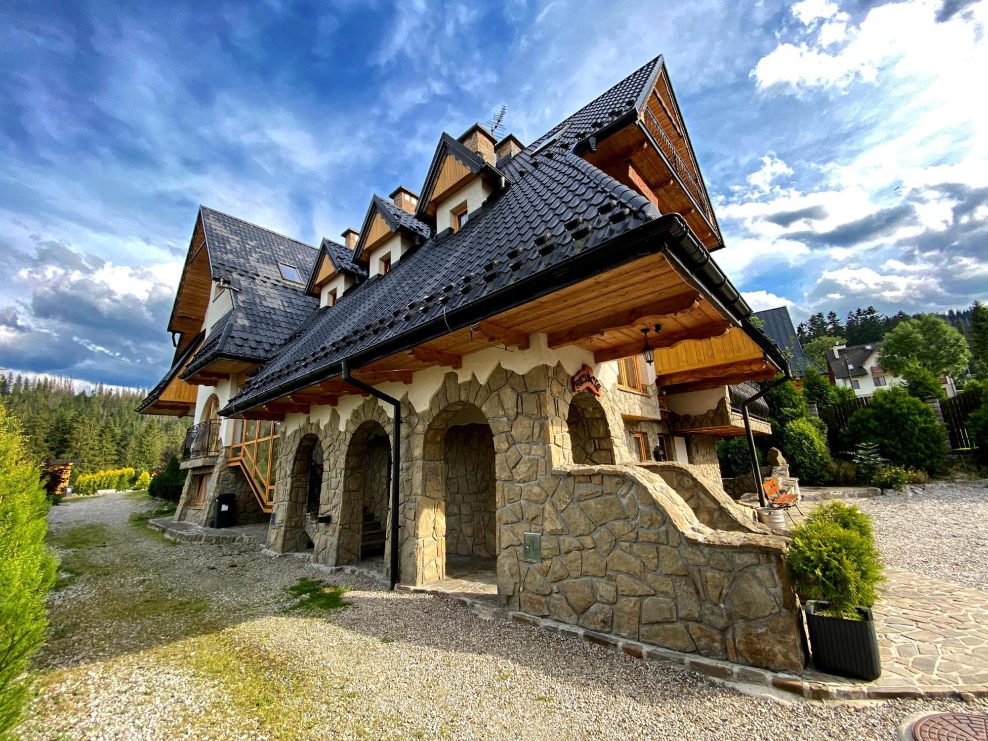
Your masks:
{"label": "rough tan stone ground-floor facade with arches and stepped low wall", "polygon": [[[562,365],[522,373],[500,363],[483,382],[448,372],[425,407],[406,393],[400,581],[445,578],[448,553],[496,556],[505,608],[702,656],[801,668],[784,540],[735,511],[713,483],[719,468],[704,467],[706,441],[694,440],[698,464],[631,462],[627,425],[651,425],[655,435],[668,428],[657,402],[628,410],[652,401],[625,397],[574,396]],[[386,489],[393,425],[372,398],[344,416],[327,410],[282,439],[268,546],[286,552],[311,541],[314,560],[337,566],[360,559],[365,503],[376,515],[376,503],[389,501],[368,491]],[[315,443],[324,456],[322,522],[305,517]],[[388,527],[390,515],[384,506]],[[535,561],[524,558],[526,534],[540,540]]]}

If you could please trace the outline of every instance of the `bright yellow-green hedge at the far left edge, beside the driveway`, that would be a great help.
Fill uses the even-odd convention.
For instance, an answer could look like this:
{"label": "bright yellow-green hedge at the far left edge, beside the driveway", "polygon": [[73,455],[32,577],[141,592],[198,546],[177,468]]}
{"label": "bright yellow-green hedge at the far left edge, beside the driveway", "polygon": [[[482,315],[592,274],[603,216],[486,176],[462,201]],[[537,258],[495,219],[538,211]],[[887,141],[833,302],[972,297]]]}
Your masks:
{"label": "bright yellow-green hedge at the far left edge, beside the driveway", "polygon": [[31,694],[25,673],[44,643],[44,597],[55,560],[44,546],[47,501],[14,418],[0,404],[0,738],[20,721]]}

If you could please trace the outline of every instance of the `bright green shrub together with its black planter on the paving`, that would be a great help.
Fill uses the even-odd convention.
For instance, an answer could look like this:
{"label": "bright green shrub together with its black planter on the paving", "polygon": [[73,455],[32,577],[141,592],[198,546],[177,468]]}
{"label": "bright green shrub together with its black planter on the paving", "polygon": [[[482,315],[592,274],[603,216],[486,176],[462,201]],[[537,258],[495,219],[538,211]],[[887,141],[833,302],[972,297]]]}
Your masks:
{"label": "bright green shrub together with its black planter on the paving", "polygon": [[813,665],[842,677],[881,675],[871,606],[881,557],[870,520],[857,507],[832,502],[793,530],[785,568],[803,602]]}

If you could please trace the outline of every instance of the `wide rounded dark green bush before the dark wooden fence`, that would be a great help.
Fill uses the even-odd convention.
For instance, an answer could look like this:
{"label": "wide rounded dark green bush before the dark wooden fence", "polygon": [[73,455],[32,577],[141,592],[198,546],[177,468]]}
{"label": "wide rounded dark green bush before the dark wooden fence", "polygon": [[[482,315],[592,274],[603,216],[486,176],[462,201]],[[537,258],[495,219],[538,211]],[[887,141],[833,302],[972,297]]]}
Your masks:
{"label": "wide rounded dark green bush before the dark wooden fence", "polygon": [[879,389],[844,431],[849,443],[876,443],[893,463],[934,471],[944,462],[947,433],[929,404],[904,388]]}

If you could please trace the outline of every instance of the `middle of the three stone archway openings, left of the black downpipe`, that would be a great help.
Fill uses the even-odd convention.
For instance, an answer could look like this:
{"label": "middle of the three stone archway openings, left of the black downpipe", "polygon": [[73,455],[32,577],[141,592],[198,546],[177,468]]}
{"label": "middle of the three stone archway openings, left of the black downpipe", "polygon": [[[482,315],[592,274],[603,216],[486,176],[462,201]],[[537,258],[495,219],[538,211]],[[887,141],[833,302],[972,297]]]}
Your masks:
{"label": "middle of the three stone archway openings, left of the black downpipe", "polygon": [[379,422],[369,420],[347,447],[338,564],[383,558],[390,490],[391,441]]}

